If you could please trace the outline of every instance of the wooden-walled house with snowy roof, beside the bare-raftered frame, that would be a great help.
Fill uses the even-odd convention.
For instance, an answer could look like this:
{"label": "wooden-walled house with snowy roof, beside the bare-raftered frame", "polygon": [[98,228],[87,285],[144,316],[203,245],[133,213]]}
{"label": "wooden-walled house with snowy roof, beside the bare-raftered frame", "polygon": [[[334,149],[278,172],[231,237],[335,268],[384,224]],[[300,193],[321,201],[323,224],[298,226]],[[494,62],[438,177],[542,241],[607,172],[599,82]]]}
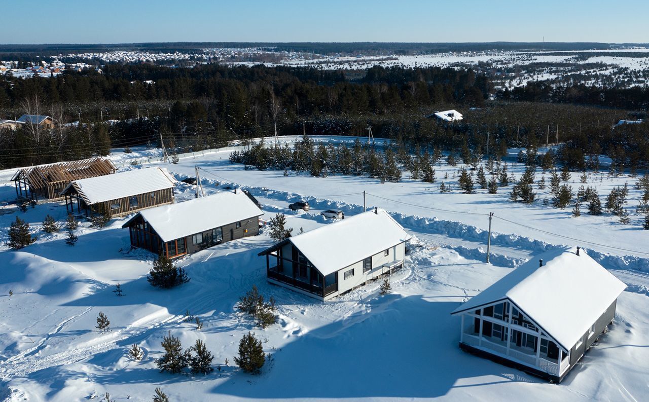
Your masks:
{"label": "wooden-walled house with snowy roof, beside the bare-raftered frame", "polygon": [[69,213],[84,210],[86,216],[108,212],[121,217],[142,209],[173,204],[177,180],[163,167],[74,180],[62,191]]}

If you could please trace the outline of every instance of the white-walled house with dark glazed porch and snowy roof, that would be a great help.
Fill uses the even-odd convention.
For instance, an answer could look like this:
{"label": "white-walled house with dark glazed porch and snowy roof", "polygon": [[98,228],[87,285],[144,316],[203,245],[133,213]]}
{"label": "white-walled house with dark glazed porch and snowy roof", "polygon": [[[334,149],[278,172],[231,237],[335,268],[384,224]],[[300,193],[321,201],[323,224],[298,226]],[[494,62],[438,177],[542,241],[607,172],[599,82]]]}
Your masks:
{"label": "white-walled house with dark glazed porch and snowy roof", "polygon": [[410,235],[374,209],[289,237],[264,250],[270,283],[329,300],[404,266]]}

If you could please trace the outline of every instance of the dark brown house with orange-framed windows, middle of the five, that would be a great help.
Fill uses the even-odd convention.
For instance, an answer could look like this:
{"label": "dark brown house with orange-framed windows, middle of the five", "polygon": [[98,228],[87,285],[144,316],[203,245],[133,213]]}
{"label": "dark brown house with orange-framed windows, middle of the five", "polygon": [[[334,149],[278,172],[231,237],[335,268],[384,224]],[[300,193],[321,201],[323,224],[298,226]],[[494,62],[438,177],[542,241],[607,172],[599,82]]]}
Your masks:
{"label": "dark brown house with orange-framed windows, middle of the five", "polygon": [[129,219],[130,244],[169,258],[255,236],[263,212],[241,190],[146,209]]}

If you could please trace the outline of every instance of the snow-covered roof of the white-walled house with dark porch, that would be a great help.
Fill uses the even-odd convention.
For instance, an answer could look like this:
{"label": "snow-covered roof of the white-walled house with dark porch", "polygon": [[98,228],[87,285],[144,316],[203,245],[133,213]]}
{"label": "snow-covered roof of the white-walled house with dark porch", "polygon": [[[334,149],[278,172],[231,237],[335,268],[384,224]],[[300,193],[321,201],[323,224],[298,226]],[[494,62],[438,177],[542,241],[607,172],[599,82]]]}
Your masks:
{"label": "snow-covered roof of the white-walled house with dark porch", "polygon": [[324,276],[410,239],[386,211],[378,209],[289,237]]}

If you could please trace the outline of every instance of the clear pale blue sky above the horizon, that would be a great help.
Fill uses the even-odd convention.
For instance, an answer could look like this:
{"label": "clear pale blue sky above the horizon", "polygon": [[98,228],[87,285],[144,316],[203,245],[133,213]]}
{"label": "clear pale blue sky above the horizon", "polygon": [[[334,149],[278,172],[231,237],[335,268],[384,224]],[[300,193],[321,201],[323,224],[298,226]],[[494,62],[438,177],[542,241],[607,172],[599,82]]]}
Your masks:
{"label": "clear pale blue sky above the horizon", "polygon": [[[60,0],[2,6],[0,43],[649,42],[646,0]],[[13,18],[13,17],[16,18]]]}

